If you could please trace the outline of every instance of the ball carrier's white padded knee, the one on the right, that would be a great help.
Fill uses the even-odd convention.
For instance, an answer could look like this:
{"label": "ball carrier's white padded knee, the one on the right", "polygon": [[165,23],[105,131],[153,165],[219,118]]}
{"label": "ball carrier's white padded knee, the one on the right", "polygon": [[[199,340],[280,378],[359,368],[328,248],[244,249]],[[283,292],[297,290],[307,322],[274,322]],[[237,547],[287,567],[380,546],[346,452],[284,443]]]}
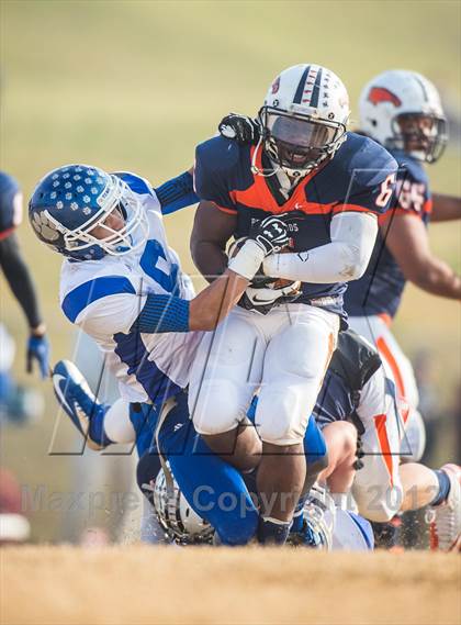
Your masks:
{"label": "ball carrier's white padded knee, the one on the right", "polygon": [[280,446],[303,443],[307,421],[296,389],[276,387],[265,390],[259,398],[255,424],[265,443]]}

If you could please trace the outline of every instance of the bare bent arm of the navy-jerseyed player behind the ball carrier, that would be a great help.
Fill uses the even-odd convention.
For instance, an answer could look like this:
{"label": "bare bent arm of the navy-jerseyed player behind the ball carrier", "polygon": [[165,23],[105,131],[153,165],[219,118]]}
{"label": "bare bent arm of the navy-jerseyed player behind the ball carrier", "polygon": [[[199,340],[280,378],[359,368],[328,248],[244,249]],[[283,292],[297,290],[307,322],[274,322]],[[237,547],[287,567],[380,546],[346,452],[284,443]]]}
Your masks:
{"label": "bare bent arm of the navy-jerseyed player behind the ball carrier", "polygon": [[461,278],[432,255],[426,227],[415,215],[395,214],[385,244],[407,280],[435,295],[461,299]]}

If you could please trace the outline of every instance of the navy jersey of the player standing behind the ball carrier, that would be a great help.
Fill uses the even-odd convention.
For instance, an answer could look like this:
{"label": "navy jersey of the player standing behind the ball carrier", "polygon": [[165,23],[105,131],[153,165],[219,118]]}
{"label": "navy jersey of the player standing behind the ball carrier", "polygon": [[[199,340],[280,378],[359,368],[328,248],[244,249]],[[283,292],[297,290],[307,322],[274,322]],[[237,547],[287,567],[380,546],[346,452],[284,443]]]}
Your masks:
{"label": "navy jersey of the player standing behind the ball carrier", "polygon": [[[426,170],[420,163],[402,152],[394,152],[393,156],[398,163],[396,192],[393,205],[385,216],[380,217],[380,224],[393,220],[390,227],[398,227],[398,214],[411,213],[427,225],[432,201]],[[350,282],[345,295],[347,313],[351,316],[379,314],[393,317],[400,306],[405,282],[397,261],[379,234],[367,271],[360,280]]]}

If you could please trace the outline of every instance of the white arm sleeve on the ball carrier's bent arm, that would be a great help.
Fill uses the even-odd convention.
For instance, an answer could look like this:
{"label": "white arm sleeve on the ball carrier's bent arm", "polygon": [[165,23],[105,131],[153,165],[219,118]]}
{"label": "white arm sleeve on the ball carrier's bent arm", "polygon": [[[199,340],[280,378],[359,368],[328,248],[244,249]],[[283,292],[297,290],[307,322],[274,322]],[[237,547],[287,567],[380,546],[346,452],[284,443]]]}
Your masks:
{"label": "white arm sleeve on the ball carrier's bent arm", "polygon": [[331,283],[357,280],[370,261],[378,220],[369,213],[341,212],[331,219],[331,243],[297,254],[274,254],[263,261],[272,278]]}

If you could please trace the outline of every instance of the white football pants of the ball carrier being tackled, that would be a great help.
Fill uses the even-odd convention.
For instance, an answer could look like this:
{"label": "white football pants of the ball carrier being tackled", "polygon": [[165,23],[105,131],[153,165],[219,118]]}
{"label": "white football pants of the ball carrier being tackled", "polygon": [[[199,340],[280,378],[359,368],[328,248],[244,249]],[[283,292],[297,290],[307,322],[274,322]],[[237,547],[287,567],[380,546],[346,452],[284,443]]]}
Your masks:
{"label": "white football pants of the ball carrier being tackled", "polygon": [[339,316],[306,304],[232,311],[192,365],[189,408],[201,434],[238,426],[258,389],[256,426],[273,445],[301,443],[336,347]]}

